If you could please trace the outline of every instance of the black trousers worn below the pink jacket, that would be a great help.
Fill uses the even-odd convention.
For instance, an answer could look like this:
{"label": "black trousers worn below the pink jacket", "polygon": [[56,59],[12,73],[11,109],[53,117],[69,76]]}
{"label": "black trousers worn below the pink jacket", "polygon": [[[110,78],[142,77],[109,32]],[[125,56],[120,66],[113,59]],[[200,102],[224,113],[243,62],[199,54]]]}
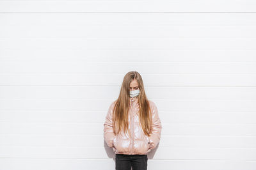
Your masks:
{"label": "black trousers worn below the pink jacket", "polygon": [[116,170],[147,170],[148,155],[116,154]]}

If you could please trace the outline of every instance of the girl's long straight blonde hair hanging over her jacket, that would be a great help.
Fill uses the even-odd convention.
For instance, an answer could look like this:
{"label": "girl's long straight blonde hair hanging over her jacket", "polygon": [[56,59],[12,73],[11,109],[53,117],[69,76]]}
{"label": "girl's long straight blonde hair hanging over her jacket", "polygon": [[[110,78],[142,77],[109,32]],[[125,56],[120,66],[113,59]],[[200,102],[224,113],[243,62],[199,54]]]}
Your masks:
{"label": "girl's long straight blonde hair hanging over her jacket", "polygon": [[[149,136],[152,133],[152,112],[150,111],[150,104],[145,94],[141,75],[136,71],[128,72],[124,76],[120,94],[118,99],[115,100],[115,107],[113,109],[113,131],[115,134],[119,134],[119,132],[127,132],[128,130],[130,83],[134,79],[138,82],[140,89],[140,94],[138,95],[140,125],[144,134]],[[131,135],[130,130],[128,131]]]}

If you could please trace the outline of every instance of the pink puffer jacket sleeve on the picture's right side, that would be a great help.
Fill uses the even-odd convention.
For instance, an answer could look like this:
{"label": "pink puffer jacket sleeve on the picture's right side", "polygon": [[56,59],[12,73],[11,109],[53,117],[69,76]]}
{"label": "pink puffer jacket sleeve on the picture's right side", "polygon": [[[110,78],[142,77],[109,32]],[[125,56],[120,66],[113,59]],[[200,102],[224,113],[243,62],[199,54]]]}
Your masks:
{"label": "pink puffer jacket sleeve on the picture's right side", "polygon": [[157,107],[154,102],[152,102],[152,134],[148,137],[150,143],[150,149],[156,148],[157,144],[160,141],[161,138],[161,130],[162,130],[162,125],[161,125],[161,120],[158,115]]}

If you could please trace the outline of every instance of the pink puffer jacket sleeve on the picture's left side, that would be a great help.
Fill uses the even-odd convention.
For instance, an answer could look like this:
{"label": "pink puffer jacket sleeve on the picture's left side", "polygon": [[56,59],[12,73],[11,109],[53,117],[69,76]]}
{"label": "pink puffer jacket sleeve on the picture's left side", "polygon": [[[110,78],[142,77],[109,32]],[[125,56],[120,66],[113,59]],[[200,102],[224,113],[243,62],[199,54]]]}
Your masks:
{"label": "pink puffer jacket sleeve on the picture's left side", "polygon": [[114,102],[109,106],[107,116],[104,122],[104,140],[110,148],[113,148],[113,139],[115,134],[113,132],[112,118],[113,118]]}

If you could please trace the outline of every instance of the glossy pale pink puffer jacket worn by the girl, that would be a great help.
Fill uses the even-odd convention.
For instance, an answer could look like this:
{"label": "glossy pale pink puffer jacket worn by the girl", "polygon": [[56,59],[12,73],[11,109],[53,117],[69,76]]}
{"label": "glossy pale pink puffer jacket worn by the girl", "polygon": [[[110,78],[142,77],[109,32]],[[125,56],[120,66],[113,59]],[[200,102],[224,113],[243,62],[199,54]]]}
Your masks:
{"label": "glossy pale pink puffer jacket worn by the girl", "polygon": [[119,133],[118,135],[113,133],[112,118],[115,102],[110,105],[104,122],[104,140],[110,148],[113,148],[116,154],[147,155],[148,152],[156,148],[160,141],[162,125],[156,104],[151,100],[148,100],[148,102],[152,111],[152,134],[149,137],[144,134],[139,123],[138,97],[130,97],[129,130],[131,130],[131,137],[127,132],[125,134]]}

